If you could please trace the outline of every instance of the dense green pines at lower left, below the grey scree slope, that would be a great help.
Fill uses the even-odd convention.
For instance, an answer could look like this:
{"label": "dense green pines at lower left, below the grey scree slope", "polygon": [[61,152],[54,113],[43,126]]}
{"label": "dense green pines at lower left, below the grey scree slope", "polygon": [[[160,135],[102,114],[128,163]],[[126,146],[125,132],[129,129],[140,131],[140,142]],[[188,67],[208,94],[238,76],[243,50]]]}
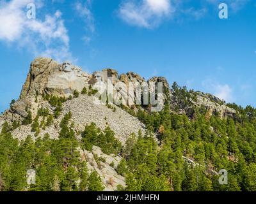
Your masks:
{"label": "dense green pines at lower left, below the grey scree slope", "polygon": [[[71,113],[60,123],[60,137],[49,135],[33,141],[31,136],[18,142],[7,131],[0,135],[1,191],[102,191],[97,172],[88,173],[81,162],[76,135],[70,126]],[[38,120],[38,119],[35,119]],[[34,121],[35,124],[35,121]],[[37,127],[37,125],[36,125]],[[26,182],[27,170],[36,170],[36,184]]]}

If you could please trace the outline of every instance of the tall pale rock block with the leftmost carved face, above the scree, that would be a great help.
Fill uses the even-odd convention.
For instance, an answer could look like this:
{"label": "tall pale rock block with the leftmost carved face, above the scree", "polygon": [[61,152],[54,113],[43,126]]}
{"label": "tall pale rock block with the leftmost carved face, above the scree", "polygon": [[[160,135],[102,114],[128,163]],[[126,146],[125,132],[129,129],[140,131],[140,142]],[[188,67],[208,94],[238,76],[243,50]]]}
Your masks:
{"label": "tall pale rock block with the leftmost carved face, above the scree", "polygon": [[52,59],[38,58],[31,63],[20,99],[44,93],[69,96],[75,89],[81,91],[89,78],[88,73],[68,62],[58,64]]}

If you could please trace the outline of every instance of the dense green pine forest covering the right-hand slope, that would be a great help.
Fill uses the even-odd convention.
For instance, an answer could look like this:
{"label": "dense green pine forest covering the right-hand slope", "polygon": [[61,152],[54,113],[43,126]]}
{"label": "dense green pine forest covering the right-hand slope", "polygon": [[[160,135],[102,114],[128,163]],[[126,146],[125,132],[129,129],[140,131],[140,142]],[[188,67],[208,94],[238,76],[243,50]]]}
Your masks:
{"label": "dense green pine forest covering the right-hand slope", "polygon": [[[173,89],[182,100],[194,96],[186,87],[174,84]],[[170,112],[170,101],[158,113],[140,109],[137,117],[156,133],[159,144],[148,135],[129,140],[131,150],[119,166],[127,177],[127,190],[135,186],[134,190],[145,190],[148,175],[161,181],[164,177],[173,191],[252,191],[256,187],[256,111],[252,106],[228,106],[237,114],[225,119],[196,107],[193,118],[179,115]],[[184,162],[182,156],[194,164]],[[218,182],[221,169],[228,172],[227,185]],[[164,185],[159,188],[164,189]]]}

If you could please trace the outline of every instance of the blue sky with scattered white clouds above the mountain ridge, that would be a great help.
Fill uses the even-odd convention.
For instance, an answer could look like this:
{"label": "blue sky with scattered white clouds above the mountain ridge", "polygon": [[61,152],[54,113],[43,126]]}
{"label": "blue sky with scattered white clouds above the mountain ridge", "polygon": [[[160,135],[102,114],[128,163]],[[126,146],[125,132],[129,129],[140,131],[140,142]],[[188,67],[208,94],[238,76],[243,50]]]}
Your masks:
{"label": "blue sky with scattered white clouds above the mountain ridge", "polygon": [[[29,3],[36,18],[29,19]],[[219,18],[219,4],[228,19]],[[0,112],[36,56],[84,71],[166,77],[256,106],[256,4],[250,0],[0,0]]]}

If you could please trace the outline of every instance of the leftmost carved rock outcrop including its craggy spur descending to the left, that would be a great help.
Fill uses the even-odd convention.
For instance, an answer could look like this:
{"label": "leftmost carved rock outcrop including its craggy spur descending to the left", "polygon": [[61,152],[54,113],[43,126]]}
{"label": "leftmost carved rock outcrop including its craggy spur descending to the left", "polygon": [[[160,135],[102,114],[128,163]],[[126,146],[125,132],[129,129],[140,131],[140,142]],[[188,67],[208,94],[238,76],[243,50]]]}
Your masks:
{"label": "leftmost carved rock outcrop including its craggy spur descending to the left", "polygon": [[58,64],[49,58],[37,58],[31,62],[19,100],[4,113],[3,118],[21,121],[28,115],[28,110],[35,116],[38,106],[43,106],[42,94],[68,97],[74,90],[81,91],[88,86],[90,78],[91,75],[68,62]]}

